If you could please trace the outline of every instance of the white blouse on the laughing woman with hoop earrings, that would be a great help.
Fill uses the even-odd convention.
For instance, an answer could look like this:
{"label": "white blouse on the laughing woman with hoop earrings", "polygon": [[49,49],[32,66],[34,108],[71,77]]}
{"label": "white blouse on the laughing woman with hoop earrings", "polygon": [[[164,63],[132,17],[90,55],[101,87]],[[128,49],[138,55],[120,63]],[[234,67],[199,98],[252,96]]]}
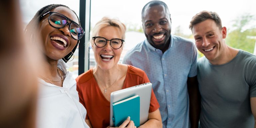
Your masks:
{"label": "white blouse on the laughing woman with hoop earrings", "polygon": [[86,109],[79,102],[76,81],[67,64],[58,61],[58,67],[66,74],[63,87],[39,78],[37,106],[38,128],[89,128],[85,123]]}

